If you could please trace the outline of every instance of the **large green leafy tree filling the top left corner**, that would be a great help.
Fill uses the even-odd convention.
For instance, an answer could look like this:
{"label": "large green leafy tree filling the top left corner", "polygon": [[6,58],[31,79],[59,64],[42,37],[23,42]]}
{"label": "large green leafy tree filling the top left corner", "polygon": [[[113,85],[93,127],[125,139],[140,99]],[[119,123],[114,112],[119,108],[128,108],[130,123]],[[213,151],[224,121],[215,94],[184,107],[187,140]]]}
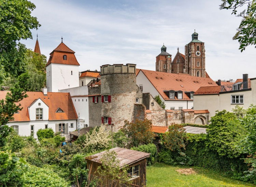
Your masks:
{"label": "large green leafy tree filling the top left corner", "polygon": [[30,29],[40,27],[31,16],[35,5],[28,0],[0,1],[0,83],[6,72],[17,77],[25,72],[25,45],[20,39],[32,38]]}

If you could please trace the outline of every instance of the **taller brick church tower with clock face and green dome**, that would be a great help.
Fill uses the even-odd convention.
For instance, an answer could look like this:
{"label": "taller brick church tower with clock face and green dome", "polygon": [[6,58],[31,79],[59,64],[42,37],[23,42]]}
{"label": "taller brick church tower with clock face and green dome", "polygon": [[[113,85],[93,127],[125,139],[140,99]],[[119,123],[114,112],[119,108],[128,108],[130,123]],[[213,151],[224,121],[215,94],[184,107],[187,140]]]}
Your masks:
{"label": "taller brick church tower with clock face and green dome", "polygon": [[204,43],[198,40],[198,33],[192,34],[192,41],[185,46],[185,73],[195,77],[205,77]]}

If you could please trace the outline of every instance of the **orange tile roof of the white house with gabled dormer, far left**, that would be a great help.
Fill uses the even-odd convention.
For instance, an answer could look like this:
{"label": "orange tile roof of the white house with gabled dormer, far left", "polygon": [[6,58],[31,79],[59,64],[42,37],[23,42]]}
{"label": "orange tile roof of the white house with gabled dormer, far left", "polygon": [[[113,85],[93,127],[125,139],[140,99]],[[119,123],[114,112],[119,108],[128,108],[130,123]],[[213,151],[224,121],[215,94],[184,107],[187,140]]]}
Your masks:
{"label": "orange tile roof of the white house with gabled dormer, far left", "polygon": [[[4,99],[8,91],[0,91],[0,99]],[[69,93],[48,92],[47,96],[43,92],[28,91],[27,98],[19,103],[23,107],[19,113],[14,114],[14,121],[30,121],[28,107],[38,98],[49,106],[49,120],[71,120],[77,119],[75,107]],[[60,108],[64,113],[56,113]]]}

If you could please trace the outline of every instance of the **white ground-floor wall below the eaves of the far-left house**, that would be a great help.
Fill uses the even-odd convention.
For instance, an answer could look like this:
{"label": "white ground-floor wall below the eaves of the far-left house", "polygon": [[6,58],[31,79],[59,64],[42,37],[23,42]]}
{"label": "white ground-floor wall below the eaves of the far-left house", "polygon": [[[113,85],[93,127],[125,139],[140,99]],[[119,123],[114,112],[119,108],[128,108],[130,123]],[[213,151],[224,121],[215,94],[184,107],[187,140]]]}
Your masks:
{"label": "white ground-floor wall below the eaves of the far-left house", "polygon": [[[55,124],[68,123],[68,132],[76,130],[76,120],[58,120],[58,121],[48,121],[48,120],[38,120],[38,121],[27,121],[27,122],[9,122],[8,126],[18,125],[20,136],[30,136],[31,125],[34,125],[34,138],[37,138],[37,131],[39,129],[45,129],[45,125],[48,124],[48,128],[53,129],[55,132]],[[73,128],[70,124],[73,123]]]}

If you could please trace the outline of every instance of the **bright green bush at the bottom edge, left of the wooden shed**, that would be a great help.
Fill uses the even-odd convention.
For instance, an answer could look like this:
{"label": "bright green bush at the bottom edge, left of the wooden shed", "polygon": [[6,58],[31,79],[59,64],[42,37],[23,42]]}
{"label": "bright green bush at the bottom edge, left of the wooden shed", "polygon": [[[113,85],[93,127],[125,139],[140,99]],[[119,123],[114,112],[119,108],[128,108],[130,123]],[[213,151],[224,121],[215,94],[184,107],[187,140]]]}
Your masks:
{"label": "bright green bush at the bottom edge, left of the wooden shed", "polygon": [[28,171],[24,174],[25,186],[51,186],[67,187],[70,186],[65,180],[58,176],[54,171],[48,168],[38,168],[29,166]]}

